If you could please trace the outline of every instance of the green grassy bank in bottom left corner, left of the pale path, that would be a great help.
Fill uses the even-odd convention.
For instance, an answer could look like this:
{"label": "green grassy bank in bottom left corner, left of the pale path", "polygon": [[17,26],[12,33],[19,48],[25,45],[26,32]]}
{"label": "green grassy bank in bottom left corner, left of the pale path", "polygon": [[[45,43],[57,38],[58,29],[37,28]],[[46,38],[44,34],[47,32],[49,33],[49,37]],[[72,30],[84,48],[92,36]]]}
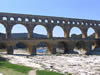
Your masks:
{"label": "green grassy bank in bottom left corner, left of the pale path", "polygon": [[0,72],[4,75],[27,75],[30,70],[32,68],[11,64],[7,59],[0,57]]}

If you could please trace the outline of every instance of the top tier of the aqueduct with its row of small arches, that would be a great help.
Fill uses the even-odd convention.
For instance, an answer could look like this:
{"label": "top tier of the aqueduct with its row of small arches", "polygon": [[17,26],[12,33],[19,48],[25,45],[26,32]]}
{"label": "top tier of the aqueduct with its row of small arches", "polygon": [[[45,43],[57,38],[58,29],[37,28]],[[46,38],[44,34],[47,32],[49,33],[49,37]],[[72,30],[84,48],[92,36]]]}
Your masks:
{"label": "top tier of the aqueduct with its row of small arches", "polygon": [[81,25],[81,26],[100,26],[98,20],[87,20],[77,18],[65,18],[54,16],[26,15],[16,13],[0,13],[0,21],[8,22],[31,22],[31,23],[51,23],[58,25]]}

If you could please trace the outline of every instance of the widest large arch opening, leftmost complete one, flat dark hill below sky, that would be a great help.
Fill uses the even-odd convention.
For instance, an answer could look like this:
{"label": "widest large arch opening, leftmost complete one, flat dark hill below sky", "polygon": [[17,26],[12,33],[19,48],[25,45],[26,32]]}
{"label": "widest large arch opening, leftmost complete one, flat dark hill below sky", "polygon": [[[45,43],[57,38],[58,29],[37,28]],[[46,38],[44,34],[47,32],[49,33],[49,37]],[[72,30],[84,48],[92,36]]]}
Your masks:
{"label": "widest large arch opening, leftmost complete one, flat dark hill below sky", "polygon": [[16,24],[11,29],[12,38],[28,38],[28,30],[23,24]]}

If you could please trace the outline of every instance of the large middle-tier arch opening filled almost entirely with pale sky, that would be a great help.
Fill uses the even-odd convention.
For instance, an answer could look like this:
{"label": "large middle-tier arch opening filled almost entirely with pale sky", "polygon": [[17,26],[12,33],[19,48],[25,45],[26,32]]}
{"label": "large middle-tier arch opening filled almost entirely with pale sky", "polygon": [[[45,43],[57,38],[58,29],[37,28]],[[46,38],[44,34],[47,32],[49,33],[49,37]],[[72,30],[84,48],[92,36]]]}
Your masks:
{"label": "large middle-tier arch opening filled almost entirely with pale sky", "polygon": [[55,26],[52,31],[53,37],[66,37],[66,32],[61,26]]}

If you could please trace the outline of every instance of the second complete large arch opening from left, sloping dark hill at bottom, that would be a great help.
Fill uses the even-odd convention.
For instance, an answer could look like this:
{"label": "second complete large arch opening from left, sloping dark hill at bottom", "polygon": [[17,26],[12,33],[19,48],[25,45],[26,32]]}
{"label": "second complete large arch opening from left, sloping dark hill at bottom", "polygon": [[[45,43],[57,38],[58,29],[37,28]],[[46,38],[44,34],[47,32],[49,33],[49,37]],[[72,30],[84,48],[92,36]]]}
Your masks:
{"label": "second complete large arch opening from left, sloping dark hill at bottom", "polygon": [[36,38],[49,37],[48,29],[43,25],[36,25],[33,29],[33,36]]}

